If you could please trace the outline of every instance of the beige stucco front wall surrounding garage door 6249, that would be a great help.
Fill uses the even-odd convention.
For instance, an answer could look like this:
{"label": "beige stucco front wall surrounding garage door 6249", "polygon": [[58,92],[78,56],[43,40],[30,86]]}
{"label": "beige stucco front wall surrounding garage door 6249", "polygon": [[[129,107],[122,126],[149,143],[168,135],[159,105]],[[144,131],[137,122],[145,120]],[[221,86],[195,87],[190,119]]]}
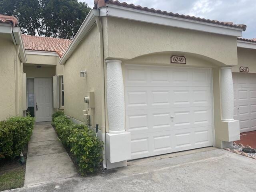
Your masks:
{"label": "beige stucco front wall surrounding garage door 6249", "polygon": [[[237,65],[236,37],[118,18],[104,18],[102,26],[105,59],[120,59],[122,65],[133,63],[212,68],[215,124],[213,131],[215,145],[221,147],[221,141],[228,137],[228,132],[226,124],[221,122],[220,67]],[[170,64],[172,55],[185,56],[187,64]]]}

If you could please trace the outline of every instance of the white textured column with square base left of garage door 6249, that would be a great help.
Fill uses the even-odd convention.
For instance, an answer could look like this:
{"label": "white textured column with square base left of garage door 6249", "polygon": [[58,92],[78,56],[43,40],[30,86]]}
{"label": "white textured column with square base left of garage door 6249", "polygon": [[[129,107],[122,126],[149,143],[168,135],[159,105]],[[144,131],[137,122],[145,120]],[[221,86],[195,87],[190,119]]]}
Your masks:
{"label": "white textured column with square base left of garage door 6249", "polygon": [[124,80],[121,60],[106,60],[108,133],[106,133],[107,169],[127,165],[131,159],[131,134],[125,131]]}

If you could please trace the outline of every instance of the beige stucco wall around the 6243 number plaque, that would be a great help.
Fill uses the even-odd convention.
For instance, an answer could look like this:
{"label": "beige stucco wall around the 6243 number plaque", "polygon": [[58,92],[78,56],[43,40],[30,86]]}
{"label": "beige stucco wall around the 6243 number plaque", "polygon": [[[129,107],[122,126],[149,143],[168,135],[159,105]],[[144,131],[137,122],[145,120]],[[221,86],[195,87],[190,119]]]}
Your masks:
{"label": "beige stucco wall around the 6243 number plaque", "polygon": [[232,72],[240,72],[240,67],[248,67],[249,73],[256,73],[256,50],[237,48],[238,65],[232,67]]}

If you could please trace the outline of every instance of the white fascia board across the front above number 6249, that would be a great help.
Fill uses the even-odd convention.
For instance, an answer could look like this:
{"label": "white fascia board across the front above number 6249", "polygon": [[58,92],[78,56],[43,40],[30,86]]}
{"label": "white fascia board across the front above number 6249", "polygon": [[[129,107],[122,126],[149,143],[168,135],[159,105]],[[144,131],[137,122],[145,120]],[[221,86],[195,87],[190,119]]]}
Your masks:
{"label": "white fascia board across the front above number 6249", "polygon": [[188,20],[184,18],[177,18],[152,12],[126,8],[107,4],[106,7],[100,8],[100,16],[112,16],[117,18],[124,18],[140,22],[147,22],[152,24],[160,24],[164,26],[172,26],[202,32],[209,32],[214,34],[222,34],[228,36],[242,36],[242,29],[230,26],[222,26],[212,23],[200,22],[195,20]]}

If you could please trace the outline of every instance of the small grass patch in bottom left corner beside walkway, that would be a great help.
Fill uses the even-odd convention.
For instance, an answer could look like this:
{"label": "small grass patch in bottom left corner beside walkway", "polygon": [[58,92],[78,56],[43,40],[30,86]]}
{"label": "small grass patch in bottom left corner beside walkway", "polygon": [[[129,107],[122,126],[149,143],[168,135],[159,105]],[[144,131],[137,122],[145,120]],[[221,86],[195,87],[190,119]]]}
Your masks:
{"label": "small grass patch in bottom left corner beside walkway", "polygon": [[23,187],[24,177],[24,167],[0,175],[0,191]]}

